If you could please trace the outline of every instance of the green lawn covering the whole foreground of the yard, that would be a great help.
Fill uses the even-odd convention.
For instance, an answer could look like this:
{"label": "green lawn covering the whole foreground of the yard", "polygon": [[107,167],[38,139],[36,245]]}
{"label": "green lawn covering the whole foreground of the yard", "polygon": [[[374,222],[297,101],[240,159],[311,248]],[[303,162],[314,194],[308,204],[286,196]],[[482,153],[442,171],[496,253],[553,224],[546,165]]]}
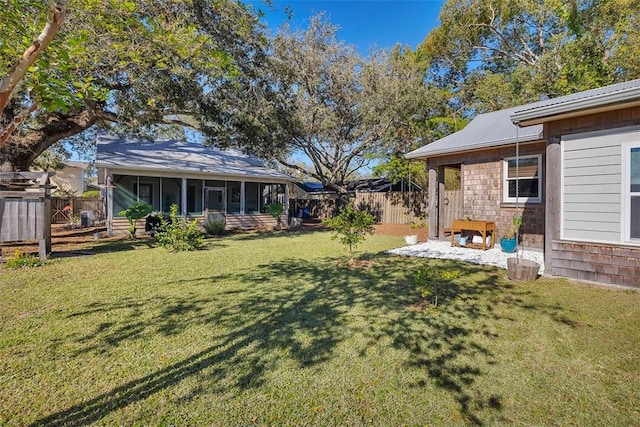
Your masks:
{"label": "green lawn covering the whole foreground of the yard", "polygon": [[[326,232],[0,269],[0,425],[634,425],[640,293]],[[438,309],[424,263],[460,270]]]}

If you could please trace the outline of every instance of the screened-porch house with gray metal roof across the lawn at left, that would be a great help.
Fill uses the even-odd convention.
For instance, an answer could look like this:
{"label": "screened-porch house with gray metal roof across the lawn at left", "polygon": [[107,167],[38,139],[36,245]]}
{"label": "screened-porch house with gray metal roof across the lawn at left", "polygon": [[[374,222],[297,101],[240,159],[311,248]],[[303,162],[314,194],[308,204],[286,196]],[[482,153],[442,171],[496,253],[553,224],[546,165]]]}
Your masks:
{"label": "screened-porch house with gray metal roof across the lawn at left", "polygon": [[291,177],[238,150],[109,134],[99,134],[97,143],[98,183],[112,193],[107,196],[111,232],[126,233],[127,221],[118,212],[136,202],[165,214],[177,204],[180,215],[200,223],[223,218],[227,228],[275,225],[266,213],[274,202],[287,212]]}

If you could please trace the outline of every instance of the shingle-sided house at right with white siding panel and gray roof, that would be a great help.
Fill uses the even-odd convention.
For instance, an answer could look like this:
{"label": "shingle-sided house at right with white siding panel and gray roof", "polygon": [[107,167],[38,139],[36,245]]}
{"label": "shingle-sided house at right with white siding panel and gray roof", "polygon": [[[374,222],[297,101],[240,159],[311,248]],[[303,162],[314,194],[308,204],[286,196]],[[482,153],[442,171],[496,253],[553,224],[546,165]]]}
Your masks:
{"label": "shingle-sided house at right with white siding panel and gray roof", "polygon": [[[640,80],[490,115],[499,123],[460,138],[478,116],[407,155],[427,161],[430,194],[442,168],[458,167],[465,213],[506,226],[519,188],[524,243],[544,248],[545,274],[640,288]],[[438,226],[442,201],[431,200]]]}

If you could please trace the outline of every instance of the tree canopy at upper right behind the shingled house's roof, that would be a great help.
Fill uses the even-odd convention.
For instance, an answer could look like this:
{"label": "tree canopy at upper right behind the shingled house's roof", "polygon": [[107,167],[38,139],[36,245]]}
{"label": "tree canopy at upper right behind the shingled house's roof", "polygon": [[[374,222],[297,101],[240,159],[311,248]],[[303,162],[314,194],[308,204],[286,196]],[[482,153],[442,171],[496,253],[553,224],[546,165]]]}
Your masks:
{"label": "tree canopy at upper right behind the shingled house's roof", "polygon": [[417,49],[465,108],[493,111],[640,77],[638,0],[449,0]]}

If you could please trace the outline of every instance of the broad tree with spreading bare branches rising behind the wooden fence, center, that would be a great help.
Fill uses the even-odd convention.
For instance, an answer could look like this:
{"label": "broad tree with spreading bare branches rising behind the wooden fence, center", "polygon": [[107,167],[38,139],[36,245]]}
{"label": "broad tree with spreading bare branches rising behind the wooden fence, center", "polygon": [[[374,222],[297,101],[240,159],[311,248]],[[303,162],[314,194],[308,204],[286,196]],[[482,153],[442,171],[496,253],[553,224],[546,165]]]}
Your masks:
{"label": "broad tree with spreading bare branches rising behind the wooden fence, center", "polygon": [[[214,129],[207,133],[339,194],[372,157],[413,141],[412,127],[424,127],[442,105],[423,70],[409,66],[400,49],[363,57],[336,30],[322,15],[306,30],[283,28],[272,43],[266,80],[210,94]],[[214,108],[224,102],[235,108]]]}

